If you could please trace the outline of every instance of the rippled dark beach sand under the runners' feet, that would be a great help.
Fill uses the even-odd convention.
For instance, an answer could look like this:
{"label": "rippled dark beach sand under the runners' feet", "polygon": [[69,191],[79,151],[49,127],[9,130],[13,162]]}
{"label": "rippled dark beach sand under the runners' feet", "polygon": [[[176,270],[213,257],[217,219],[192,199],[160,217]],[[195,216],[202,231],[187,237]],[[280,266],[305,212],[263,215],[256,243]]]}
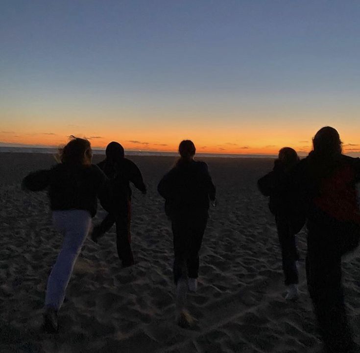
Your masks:
{"label": "rippled dark beach sand under the runners' feet", "polygon": [[[102,156],[95,156],[94,162]],[[115,227],[78,258],[57,335],[40,329],[46,282],[61,236],[51,226],[45,192],[21,190],[30,171],[51,155],[0,153],[0,352],[230,353],[321,352],[305,279],[306,233],[298,236],[300,300],[284,300],[275,223],[256,181],[270,159],[202,158],[217,187],[218,205],[200,252],[198,292],[188,296],[196,325],[174,321],[172,235],[157,184],[172,157],[139,157],[148,194],[133,193],[132,248],[136,265],[122,269]],[[105,212],[99,209],[94,222]],[[343,265],[351,324],[360,335],[360,258]]]}

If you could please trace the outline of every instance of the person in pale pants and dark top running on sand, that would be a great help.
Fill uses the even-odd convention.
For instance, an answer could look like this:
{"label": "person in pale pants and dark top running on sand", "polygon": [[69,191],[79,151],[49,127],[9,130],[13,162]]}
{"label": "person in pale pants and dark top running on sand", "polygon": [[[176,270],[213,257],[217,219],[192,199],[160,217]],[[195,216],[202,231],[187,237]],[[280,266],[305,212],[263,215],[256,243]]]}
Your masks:
{"label": "person in pale pants and dark top running on sand", "polygon": [[30,173],[23,180],[23,188],[39,191],[48,188],[52,220],[64,236],[60,253],[48,278],[45,298],[44,329],[58,330],[57,312],[63,304],[65,292],[75,261],[96,214],[97,197],[106,202],[106,176],[91,164],[90,142],[73,138],[61,151],[61,163],[49,170]]}

